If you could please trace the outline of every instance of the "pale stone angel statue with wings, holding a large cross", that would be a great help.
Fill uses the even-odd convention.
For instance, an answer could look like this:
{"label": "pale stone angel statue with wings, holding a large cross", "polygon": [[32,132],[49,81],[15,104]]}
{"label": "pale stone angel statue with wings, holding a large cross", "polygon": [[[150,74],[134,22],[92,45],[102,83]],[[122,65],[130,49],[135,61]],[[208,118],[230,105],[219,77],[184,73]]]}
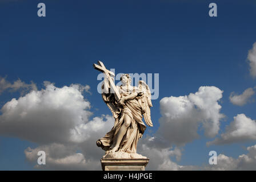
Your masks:
{"label": "pale stone angel statue with wings, holding a large cross", "polygon": [[[150,117],[151,92],[149,86],[140,80],[138,87],[131,86],[129,74],[123,74],[120,78],[122,85],[115,86],[110,75],[114,73],[108,71],[101,61],[94,68],[105,73],[102,84],[102,98],[107,104],[113,117],[115,118],[113,128],[97,140],[96,144],[106,151],[104,157],[109,158],[142,158],[137,154],[137,143],[142,137],[146,125],[142,121],[142,116],[148,126],[153,126]],[[107,92],[109,90],[113,92]],[[122,156],[121,156],[122,155]]]}

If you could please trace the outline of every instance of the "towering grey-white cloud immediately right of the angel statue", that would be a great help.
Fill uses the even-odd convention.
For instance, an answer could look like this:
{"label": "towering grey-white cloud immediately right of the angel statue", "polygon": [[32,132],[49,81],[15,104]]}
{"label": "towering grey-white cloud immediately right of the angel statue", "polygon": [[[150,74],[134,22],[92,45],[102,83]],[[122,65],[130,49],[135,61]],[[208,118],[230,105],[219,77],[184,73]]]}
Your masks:
{"label": "towering grey-white cloud immediately right of the angel statue", "polygon": [[[154,137],[139,141],[139,154],[148,156],[148,170],[197,170],[198,166],[181,166],[182,147],[198,138],[198,128],[205,129],[207,137],[218,134],[222,90],[215,86],[201,86],[189,96],[165,97],[160,101],[162,118]],[[175,145],[175,147],[173,147]],[[176,162],[174,162],[174,159]]]}

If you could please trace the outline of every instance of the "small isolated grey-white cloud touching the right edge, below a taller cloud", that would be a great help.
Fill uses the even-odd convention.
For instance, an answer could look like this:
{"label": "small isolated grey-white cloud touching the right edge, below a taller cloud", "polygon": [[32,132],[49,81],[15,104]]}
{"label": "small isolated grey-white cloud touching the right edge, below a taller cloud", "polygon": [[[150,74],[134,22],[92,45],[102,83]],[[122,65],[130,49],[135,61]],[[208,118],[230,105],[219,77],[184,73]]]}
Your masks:
{"label": "small isolated grey-white cloud touching the right edge, below a taller cloud", "polygon": [[250,102],[250,98],[254,95],[254,93],[253,88],[247,88],[241,95],[232,92],[229,96],[229,100],[234,105],[243,106]]}

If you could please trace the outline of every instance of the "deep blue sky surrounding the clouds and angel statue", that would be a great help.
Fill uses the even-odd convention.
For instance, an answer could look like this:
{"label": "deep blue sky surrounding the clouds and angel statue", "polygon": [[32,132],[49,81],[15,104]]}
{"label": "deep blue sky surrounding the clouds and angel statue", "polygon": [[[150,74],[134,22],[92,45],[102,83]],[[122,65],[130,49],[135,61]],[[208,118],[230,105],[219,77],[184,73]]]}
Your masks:
{"label": "deep blue sky surrounding the clouds and angel statue", "polygon": [[[37,4],[46,5],[46,17],[37,16]],[[218,6],[210,17],[209,3]],[[163,97],[179,97],[200,86],[223,90],[219,104],[221,119],[217,137],[237,114],[256,119],[255,102],[244,106],[229,101],[231,92],[242,94],[253,88],[248,51],[256,42],[255,1],[1,1],[0,76],[13,83],[20,78],[43,81],[62,88],[70,84],[90,86],[83,93],[90,101],[91,118],[110,114],[97,93],[98,71],[93,63],[103,61],[119,73],[159,73],[159,98],[153,100],[151,116],[154,136],[159,127]],[[19,98],[19,92],[5,90],[0,106]],[[253,99],[255,97],[251,97]],[[183,147],[180,165],[207,164],[211,150],[238,158],[255,140],[206,146],[214,138],[200,138]],[[182,134],[181,134],[182,135]],[[101,137],[101,136],[99,136]],[[24,150],[37,143],[2,135],[0,169],[34,169]],[[98,150],[100,150],[98,148]],[[175,159],[174,159],[175,161]]]}

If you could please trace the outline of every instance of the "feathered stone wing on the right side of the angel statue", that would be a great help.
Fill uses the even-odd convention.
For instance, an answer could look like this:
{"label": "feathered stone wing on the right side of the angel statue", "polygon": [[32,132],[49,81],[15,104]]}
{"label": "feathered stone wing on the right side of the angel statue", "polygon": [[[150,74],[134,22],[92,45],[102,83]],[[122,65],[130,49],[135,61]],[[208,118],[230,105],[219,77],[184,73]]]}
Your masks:
{"label": "feathered stone wing on the right side of the angel statue", "polygon": [[150,107],[152,107],[152,102],[151,102],[151,92],[149,89],[149,86],[145,83],[143,80],[139,80],[139,91],[143,92],[142,98],[141,98],[141,105],[142,109],[145,111],[143,114],[143,117],[145,119],[145,122],[149,126],[153,126],[153,123],[151,121],[151,115],[150,115]]}

